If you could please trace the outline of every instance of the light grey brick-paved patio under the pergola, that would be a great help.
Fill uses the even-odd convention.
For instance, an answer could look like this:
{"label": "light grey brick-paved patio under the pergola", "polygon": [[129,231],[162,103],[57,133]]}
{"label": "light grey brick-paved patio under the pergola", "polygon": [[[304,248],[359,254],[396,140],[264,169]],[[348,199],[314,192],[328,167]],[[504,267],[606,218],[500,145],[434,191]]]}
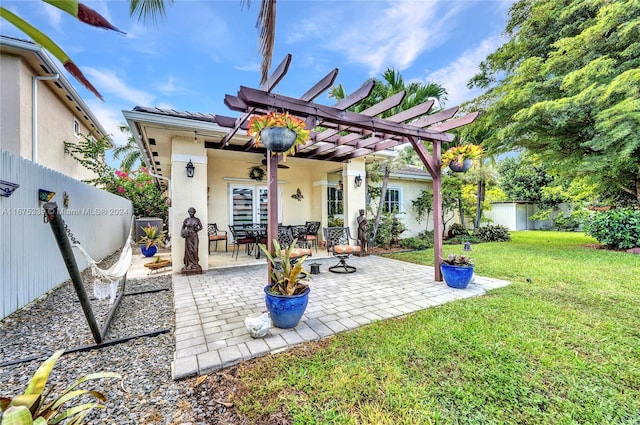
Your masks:
{"label": "light grey brick-paved patio under the pergola", "polygon": [[337,259],[313,259],[320,274],[310,282],[309,304],[294,329],[271,328],[254,339],[247,316],[266,311],[266,264],[212,269],[202,275],[173,275],[176,351],[173,379],[206,374],[278,353],[377,320],[403,316],[449,301],[482,295],[509,282],[476,276],[467,289],[434,281],[433,267],[377,256],[350,258],[356,273],[341,275],[327,268]]}

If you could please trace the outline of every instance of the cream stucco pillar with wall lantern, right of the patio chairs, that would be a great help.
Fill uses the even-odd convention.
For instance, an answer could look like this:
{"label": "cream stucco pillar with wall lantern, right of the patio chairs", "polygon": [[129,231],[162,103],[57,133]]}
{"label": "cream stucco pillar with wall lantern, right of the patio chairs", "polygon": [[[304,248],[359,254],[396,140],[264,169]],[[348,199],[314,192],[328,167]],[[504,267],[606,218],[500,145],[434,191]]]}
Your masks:
{"label": "cream stucco pillar with wall lantern, right of the patio chairs", "polygon": [[[356,176],[360,176],[362,184],[356,187]],[[342,170],[342,191],[344,202],[344,225],[349,226],[351,237],[358,237],[358,222],[356,219],[360,210],[366,210],[367,187],[365,184],[364,158],[350,160]]]}

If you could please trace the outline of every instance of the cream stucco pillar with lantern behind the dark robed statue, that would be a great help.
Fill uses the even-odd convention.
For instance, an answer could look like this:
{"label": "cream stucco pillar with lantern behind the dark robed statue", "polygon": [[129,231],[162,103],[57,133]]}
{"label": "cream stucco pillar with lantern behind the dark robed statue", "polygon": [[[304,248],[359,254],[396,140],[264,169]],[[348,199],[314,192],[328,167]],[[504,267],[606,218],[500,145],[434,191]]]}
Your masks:
{"label": "cream stucco pillar with lantern behind the dark robed statue", "polygon": [[[193,177],[187,177],[187,163],[195,166]],[[202,270],[209,268],[207,236],[207,151],[202,143],[193,139],[174,138],[171,141],[171,199],[172,218],[171,262],[173,271],[180,272],[184,266],[184,239],[180,236],[182,222],[189,217],[190,207],[195,208],[195,216],[202,222],[203,229],[198,232],[198,260]]]}

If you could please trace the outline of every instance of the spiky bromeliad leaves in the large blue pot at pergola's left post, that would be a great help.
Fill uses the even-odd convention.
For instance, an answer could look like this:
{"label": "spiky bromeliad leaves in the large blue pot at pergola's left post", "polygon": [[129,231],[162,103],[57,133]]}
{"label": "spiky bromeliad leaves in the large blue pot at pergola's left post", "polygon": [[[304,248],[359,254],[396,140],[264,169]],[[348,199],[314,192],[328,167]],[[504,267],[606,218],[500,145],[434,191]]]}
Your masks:
{"label": "spiky bromeliad leaves in the large blue pot at pergola's left post", "polygon": [[288,248],[282,248],[277,240],[273,241],[273,255],[264,244],[260,244],[260,249],[271,263],[272,285],[269,292],[279,295],[298,295],[308,288],[302,283],[309,280],[309,275],[304,272],[303,265],[307,256],[291,262],[291,253],[295,249],[297,239]]}

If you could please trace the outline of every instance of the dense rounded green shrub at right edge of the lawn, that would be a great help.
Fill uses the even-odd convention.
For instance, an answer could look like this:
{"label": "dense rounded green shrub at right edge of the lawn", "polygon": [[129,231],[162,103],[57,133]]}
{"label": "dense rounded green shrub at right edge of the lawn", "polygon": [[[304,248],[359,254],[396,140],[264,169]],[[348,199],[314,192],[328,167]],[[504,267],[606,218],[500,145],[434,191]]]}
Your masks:
{"label": "dense rounded green shrub at right edge of the lawn", "polygon": [[640,210],[620,208],[593,212],[585,222],[584,231],[611,248],[640,246]]}

